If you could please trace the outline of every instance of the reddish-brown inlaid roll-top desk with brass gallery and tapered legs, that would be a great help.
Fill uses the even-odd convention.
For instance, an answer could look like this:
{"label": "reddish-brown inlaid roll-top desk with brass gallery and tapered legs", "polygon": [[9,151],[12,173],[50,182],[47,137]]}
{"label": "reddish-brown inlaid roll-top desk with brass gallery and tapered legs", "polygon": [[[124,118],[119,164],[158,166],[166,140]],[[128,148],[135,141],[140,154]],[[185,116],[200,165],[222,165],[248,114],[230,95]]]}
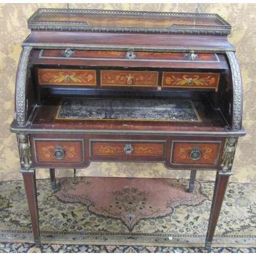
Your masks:
{"label": "reddish-brown inlaid roll-top desk with brass gallery and tapered legs", "polygon": [[34,241],[35,170],[91,161],[216,172],[210,247],[242,127],[231,26],[217,14],[39,9],[28,19],[15,119]]}

